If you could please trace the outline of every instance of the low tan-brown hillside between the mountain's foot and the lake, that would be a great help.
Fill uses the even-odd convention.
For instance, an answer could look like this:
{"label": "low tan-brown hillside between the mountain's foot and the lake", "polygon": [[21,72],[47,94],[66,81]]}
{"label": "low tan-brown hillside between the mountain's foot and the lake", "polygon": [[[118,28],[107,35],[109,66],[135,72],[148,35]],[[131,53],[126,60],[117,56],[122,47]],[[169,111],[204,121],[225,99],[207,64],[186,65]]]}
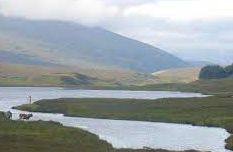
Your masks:
{"label": "low tan-brown hillside between the mountain's foot and the lake", "polygon": [[155,83],[153,76],[122,69],[81,69],[67,66],[0,62],[0,86],[119,87]]}

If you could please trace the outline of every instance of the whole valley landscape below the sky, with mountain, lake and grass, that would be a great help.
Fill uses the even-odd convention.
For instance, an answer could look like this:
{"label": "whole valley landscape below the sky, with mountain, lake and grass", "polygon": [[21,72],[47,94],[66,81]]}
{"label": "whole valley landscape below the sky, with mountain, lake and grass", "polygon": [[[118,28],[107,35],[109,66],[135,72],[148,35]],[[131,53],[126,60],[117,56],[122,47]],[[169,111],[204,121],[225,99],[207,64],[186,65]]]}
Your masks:
{"label": "whole valley landscape below the sky, with mountain, lake and grass", "polygon": [[[233,150],[233,65],[189,61],[119,33],[8,17],[0,7],[0,149]],[[33,117],[19,121],[21,113]]]}

